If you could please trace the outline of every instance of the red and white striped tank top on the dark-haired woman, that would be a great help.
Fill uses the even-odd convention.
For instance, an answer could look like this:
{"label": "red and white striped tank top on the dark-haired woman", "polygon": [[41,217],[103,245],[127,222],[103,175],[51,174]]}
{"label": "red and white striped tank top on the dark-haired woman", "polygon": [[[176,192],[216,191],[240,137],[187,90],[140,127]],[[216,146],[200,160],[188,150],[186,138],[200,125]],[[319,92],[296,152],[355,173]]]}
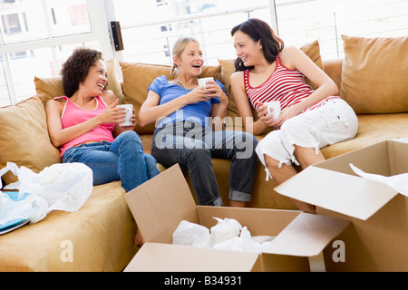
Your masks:
{"label": "red and white striped tank top on the dark-haired woman", "polygon": [[[274,73],[260,86],[253,88],[249,84],[249,70],[244,72],[245,91],[247,92],[249,101],[252,106],[257,109],[257,102],[279,101],[281,109],[293,106],[298,102],[302,102],[314,91],[305,82],[305,75],[297,70],[289,70],[286,66],[280,63],[279,54],[277,55],[277,68]],[[338,99],[340,97],[333,96],[325,98],[314,105],[306,108],[305,111],[311,111],[318,108],[323,102],[329,99]],[[305,112],[302,111],[302,112]]]}

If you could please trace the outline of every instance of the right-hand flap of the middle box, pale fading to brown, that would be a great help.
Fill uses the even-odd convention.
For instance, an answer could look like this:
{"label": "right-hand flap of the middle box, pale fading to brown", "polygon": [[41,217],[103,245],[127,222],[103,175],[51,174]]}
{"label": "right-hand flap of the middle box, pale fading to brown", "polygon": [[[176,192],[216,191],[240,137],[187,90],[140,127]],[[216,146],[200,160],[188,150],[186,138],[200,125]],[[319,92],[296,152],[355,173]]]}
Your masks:
{"label": "right-hand flap of the middle box, pale fading to brown", "polygon": [[271,244],[265,253],[291,256],[317,256],[350,221],[301,213]]}

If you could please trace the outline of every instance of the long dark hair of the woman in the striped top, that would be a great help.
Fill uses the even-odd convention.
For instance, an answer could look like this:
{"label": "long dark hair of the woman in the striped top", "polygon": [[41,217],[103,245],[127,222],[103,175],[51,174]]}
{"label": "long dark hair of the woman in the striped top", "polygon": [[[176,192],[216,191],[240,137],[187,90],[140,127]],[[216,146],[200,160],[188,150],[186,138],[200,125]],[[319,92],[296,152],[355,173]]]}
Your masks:
{"label": "long dark hair of the woman in the striped top", "polygon": [[[277,37],[272,28],[266,22],[257,19],[250,18],[242,24],[238,24],[231,30],[231,35],[234,36],[238,31],[248,34],[254,42],[260,40],[262,44],[262,50],[268,63],[274,63],[277,59],[277,54],[280,53],[285,43],[282,39]],[[247,67],[242,60],[238,57],[235,61],[235,68],[238,71],[252,70],[254,67]]]}

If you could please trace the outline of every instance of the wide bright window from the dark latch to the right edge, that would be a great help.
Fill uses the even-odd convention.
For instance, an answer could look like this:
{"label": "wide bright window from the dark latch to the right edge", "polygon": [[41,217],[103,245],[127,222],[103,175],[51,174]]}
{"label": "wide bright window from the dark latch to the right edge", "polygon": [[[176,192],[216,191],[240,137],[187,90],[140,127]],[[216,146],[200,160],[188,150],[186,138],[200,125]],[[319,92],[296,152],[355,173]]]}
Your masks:
{"label": "wide bright window from the dark latch to the right edge", "polygon": [[[235,58],[230,29],[261,18],[287,45],[316,39],[324,58],[343,57],[341,34],[375,37],[408,34],[407,0],[112,0],[121,21],[124,61],[171,63],[172,43],[194,35],[203,44],[207,64]],[[134,5],[134,6],[132,6]],[[274,18],[277,24],[274,24]],[[171,25],[171,26],[170,26]]]}

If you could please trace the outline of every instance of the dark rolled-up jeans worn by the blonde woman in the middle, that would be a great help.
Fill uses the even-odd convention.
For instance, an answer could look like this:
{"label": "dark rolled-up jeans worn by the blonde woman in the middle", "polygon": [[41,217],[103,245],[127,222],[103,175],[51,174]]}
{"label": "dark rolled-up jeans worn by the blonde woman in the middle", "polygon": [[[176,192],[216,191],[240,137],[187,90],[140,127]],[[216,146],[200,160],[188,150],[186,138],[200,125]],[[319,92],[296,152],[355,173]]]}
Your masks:
{"label": "dark rolled-up jeans worn by the blonde woman in the middle", "polygon": [[189,171],[200,205],[222,206],[211,158],[231,160],[229,199],[250,201],[257,166],[257,139],[241,131],[210,131],[190,121],[170,123],[155,131],[151,155],[169,168]]}

